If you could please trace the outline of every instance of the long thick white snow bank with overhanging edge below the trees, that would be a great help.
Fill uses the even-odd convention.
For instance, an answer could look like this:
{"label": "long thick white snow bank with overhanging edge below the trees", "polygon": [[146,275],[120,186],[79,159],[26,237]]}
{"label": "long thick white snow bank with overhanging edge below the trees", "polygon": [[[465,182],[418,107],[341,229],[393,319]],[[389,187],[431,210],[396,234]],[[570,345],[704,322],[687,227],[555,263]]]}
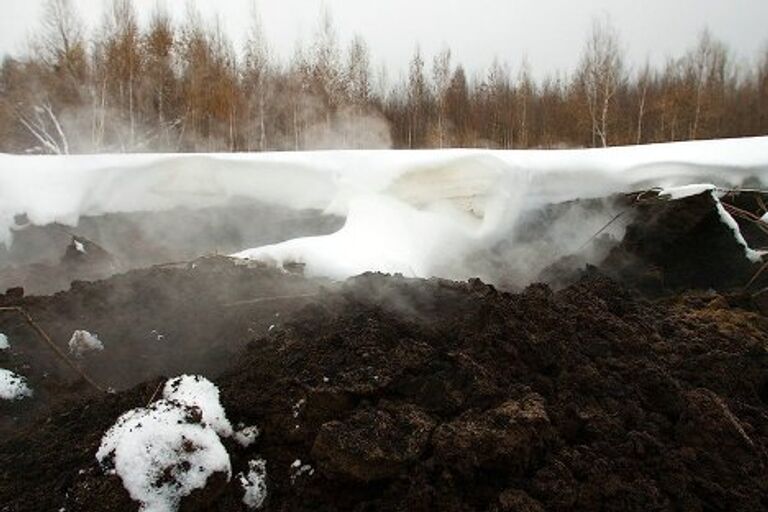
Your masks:
{"label": "long thick white snow bank with overhanging edge below the trees", "polygon": [[[473,267],[478,255],[492,253],[541,205],[651,187],[734,188],[747,180],[768,182],[768,137],[589,150],[0,155],[0,239],[10,241],[19,213],[35,224],[74,224],[82,215],[245,197],[321,209],[346,223],[329,236],[243,248],[238,257],[304,263],[309,275],[335,278],[384,271],[493,280]],[[582,219],[570,231],[586,240],[594,226],[579,225]],[[568,249],[550,244],[503,259],[541,266]]]}

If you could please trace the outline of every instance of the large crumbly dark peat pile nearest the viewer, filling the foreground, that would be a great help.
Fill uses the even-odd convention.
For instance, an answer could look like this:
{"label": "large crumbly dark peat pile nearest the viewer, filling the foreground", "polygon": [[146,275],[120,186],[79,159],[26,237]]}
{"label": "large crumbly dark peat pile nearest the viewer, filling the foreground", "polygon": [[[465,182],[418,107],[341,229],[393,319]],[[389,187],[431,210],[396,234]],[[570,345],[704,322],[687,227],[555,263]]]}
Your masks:
{"label": "large crumbly dark peat pile nearest the viewer, filling the foreground", "polygon": [[[649,303],[599,275],[517,295],[366,275],[214,380],[262,430],[229,448],[235,473],[267,461],[266,510],[764,510],[767,324],[744,297]],[[162,382],[4,439],[3,510],[136,510],[94,453]],[[236,479],[206,492],[244,510]]]}

